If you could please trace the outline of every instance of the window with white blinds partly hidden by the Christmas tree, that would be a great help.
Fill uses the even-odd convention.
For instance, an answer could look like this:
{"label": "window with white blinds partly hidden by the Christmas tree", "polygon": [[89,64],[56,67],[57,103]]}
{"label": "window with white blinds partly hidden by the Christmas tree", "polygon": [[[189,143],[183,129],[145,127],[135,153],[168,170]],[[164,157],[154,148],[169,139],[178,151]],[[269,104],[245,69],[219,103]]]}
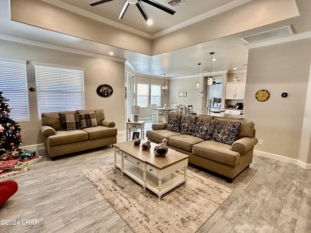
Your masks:
{"label": "window with white blinds partly hidden by the Christmas tree", "polygon": [[0,90],[14,120],[29,120],[26,61],[0,58]]}

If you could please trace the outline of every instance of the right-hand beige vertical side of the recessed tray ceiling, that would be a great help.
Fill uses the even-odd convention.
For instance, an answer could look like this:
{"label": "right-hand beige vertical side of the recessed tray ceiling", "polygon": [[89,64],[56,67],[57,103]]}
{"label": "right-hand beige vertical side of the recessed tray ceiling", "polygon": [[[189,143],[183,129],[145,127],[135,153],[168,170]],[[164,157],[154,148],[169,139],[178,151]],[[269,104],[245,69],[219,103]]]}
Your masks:
{"label": "right-hand beige vertical side of the recessed tray ceiling", "polygon": [[[255,0],[153,40],[153,55],[299,16],[294,0]],[[178,42],[178,43],[176,43]]]}

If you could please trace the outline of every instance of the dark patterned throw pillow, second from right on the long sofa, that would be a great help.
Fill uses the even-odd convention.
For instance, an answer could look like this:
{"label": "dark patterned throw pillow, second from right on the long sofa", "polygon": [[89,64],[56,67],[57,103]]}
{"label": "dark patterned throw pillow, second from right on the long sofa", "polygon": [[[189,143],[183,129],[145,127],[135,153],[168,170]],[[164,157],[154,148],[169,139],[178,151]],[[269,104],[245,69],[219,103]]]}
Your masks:
{"label": "dark patterned throw pillow, second from right on the long sofa", "polygon": [[195,123],[194,135],[196,137],[206,140],[212,140],[215,128],[214,119],[197,118]]}

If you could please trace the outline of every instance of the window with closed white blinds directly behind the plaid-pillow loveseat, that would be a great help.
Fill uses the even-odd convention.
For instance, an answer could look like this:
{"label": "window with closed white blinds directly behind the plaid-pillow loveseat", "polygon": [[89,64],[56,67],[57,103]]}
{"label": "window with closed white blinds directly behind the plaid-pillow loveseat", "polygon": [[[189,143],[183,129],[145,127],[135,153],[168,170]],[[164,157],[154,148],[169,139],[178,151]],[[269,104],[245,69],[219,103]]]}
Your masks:
{"label": "window with closed white blinds directly behind the plaid-pillow loveseat", "polygon": [[35,64],[38,117],[42,113],[84,109],[84,70]]}

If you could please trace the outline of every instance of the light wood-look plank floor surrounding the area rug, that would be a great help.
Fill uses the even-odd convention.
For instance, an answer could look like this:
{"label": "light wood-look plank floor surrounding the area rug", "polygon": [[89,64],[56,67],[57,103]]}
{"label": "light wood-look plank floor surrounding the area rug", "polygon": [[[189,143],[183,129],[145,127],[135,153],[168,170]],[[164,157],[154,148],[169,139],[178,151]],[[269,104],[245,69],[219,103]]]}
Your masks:
{"label": "light wood-look plank floor surrounding the area rug", "polygon": [[[118,135],[118,142],[124,140],[125,134]],[[27,150],[44,157],[29,171],[10,178],[19,187],[0,207],[0,219],[16,219],[20,225],[0,225],[0,232],[132,232],[80,171],[113,161],[111,146],[56,161],[42,146]],[[311,232],[311,170],[257,155],[233,183],[197,167],[189,169],[234,189],[197,233]],[[26,224],[26,220],[39,224]]]}

